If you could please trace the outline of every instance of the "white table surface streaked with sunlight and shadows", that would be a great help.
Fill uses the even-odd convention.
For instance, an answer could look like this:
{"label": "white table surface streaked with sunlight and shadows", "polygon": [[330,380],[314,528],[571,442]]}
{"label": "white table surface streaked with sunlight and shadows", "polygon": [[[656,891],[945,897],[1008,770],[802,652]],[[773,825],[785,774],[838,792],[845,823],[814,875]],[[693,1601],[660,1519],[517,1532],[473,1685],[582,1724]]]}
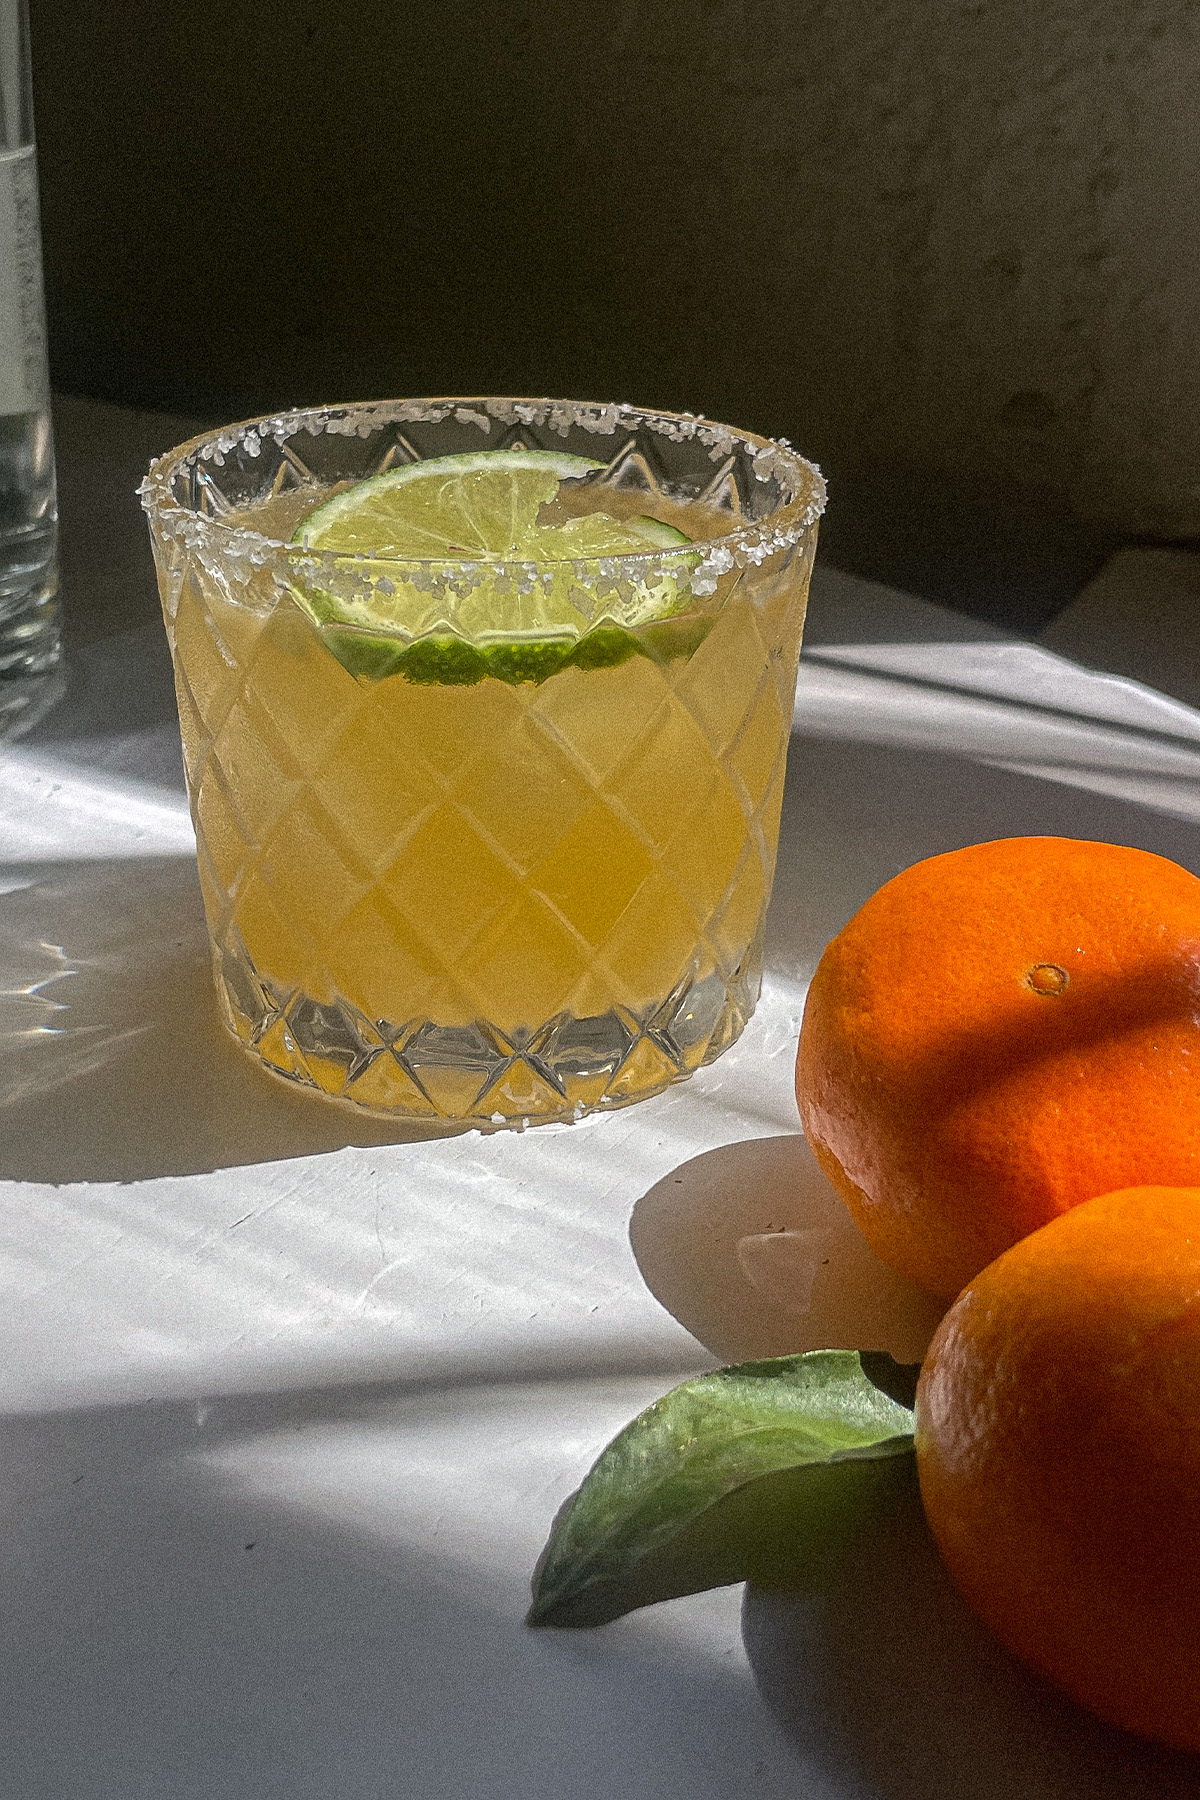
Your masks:
{"label": "white table surface streaked with sunlight and shadows", "polygon": [[[113,544],[110,598],[148,569]],[[1200,868],[1200,715],[819,571],[741,1042],[581,1125],[403,1139],[221,1035],[162,635],[76,637],[0,761],[0,1795],[1200,1793],[1016,1669],[919,1519],[822,1597],[522,1625],[556,1508],[649,1399],[932,1330],[799,1136],[822,945],[979,839]]]}

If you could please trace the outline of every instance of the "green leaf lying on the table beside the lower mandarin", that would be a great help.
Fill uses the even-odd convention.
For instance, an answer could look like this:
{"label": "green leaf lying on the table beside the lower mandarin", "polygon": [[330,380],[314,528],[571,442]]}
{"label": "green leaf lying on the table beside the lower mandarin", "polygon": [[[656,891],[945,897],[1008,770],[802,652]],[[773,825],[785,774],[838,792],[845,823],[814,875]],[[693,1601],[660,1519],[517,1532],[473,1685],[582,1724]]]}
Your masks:
{"label": "green leaf lying on the table beside the lower mandarin", "polygon": [[[907,1465],[909,1372],[856,1350],[685,1381],[601,1454],[534,1575],[531,1625],[594,1625],[732,1580],[788,1584],[837,1553]],[[891,1391],[887,1391],[891,1390]],[[901,1480],[907,1478],[907,1472]]]}

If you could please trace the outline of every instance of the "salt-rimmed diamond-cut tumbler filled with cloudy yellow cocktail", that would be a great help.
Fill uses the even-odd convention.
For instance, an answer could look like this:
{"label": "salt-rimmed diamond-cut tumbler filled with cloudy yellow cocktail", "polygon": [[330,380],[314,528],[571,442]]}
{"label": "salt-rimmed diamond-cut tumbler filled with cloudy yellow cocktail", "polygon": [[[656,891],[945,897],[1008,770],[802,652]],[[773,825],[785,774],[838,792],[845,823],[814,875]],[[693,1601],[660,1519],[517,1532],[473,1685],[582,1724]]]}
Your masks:
{"label": "salt-rimmed diamond-cut tumbler filled with cloudy yellow cocktail", "polygon": [[[707,533],[554,565],[291,542],[338,486],[475,450],[594,459],[606,509]],[[381,401],[198,437],[142,504],[218,997],[250,1053],[372,1112],[507,1123],[624,1105],[734,1042],[824,504],[810,463],[687,414]]]}

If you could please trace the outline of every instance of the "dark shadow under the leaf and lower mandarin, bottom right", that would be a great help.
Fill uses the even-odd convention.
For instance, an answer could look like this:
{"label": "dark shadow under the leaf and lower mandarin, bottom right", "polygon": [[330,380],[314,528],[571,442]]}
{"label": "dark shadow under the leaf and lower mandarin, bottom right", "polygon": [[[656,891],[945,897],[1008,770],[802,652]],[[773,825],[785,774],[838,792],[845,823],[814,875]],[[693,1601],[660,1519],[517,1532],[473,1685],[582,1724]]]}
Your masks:
{"label": "dark shadow under the leaf and lower mandarin, bottom right", "polygon": [[[1184,1800],[1200,1764],[1092,1719],[968,1611],[921,1514],[914,1465],[853,1553],[790,1593],[748,1588],[763,1699],[820,1791],[871,1800]],[[1166,1670],[1164,1670],[1164,1678]]]}

